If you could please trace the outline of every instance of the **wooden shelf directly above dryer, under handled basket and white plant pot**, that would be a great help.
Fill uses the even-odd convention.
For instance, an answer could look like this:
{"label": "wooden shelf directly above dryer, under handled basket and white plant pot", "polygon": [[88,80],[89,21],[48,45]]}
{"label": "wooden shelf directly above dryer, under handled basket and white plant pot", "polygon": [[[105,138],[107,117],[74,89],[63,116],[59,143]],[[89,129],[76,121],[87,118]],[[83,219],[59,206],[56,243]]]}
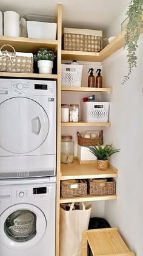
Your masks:
{"label": "wooden shelf directly above dryer, under handled basket and white plant pot", "polygon": [[57,79],[56,74],[35,74],[35,73],[7,73],[0,72],[0,77],[29,77],[29,78],[41,78],[41,79]]}

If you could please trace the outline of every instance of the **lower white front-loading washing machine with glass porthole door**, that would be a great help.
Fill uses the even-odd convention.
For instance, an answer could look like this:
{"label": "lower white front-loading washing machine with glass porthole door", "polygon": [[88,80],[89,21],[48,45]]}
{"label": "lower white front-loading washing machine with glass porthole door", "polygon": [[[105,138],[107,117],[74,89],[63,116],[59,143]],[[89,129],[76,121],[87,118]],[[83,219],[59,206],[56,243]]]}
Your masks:
{"label": "lower white front-loading washing machine with glass porthole door", "polygon": [[56,177],[0,180],[0,255],[55,256]]}

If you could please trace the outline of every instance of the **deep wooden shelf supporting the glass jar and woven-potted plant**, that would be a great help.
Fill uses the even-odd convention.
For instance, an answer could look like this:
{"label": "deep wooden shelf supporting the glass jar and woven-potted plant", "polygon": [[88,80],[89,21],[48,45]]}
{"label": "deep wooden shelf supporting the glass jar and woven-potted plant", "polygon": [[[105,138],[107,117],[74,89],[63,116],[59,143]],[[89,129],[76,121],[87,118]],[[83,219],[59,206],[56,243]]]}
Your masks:
{"label": "deep wooden shelf supporting the glass jar and woven-potted plant", "polygon": [[79,163],[78,160],[75,160],[70,165],[61,163],[61,180],[111,177],[118,177],[118,169],[112,165],[108,166],[106,171],[100,171],[96,161],[95,163],[86,163],[86,161]]}

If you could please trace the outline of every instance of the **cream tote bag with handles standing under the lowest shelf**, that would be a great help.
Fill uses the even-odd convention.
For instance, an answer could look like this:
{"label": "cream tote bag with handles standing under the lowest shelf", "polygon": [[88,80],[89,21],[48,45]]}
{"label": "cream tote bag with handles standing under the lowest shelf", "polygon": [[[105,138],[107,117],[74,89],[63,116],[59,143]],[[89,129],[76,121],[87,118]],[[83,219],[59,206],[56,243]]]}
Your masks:
{"label": "cream tote bag with handles standing under the lowest shelf", "polygon": [[60,208],[60,256],[82,256],[82,233],[88,229],[91,205],[82,210],[73,210],[74,202],[69,211]]}

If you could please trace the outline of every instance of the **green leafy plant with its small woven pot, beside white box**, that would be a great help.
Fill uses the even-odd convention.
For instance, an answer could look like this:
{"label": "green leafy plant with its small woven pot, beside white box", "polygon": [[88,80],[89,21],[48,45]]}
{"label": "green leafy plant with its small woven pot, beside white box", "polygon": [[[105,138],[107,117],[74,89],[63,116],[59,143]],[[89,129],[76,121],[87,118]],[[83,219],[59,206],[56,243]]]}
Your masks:
{"label": "green leafy plant with its small woven pot, beside white box", "polygon": [[98,169],[105,171],[108,167],[108,158],[119,152],[120,149],[115,149],[111,145],[106,145],[102,148],[101,145],[87,147],[89,151],[97,157]]}

